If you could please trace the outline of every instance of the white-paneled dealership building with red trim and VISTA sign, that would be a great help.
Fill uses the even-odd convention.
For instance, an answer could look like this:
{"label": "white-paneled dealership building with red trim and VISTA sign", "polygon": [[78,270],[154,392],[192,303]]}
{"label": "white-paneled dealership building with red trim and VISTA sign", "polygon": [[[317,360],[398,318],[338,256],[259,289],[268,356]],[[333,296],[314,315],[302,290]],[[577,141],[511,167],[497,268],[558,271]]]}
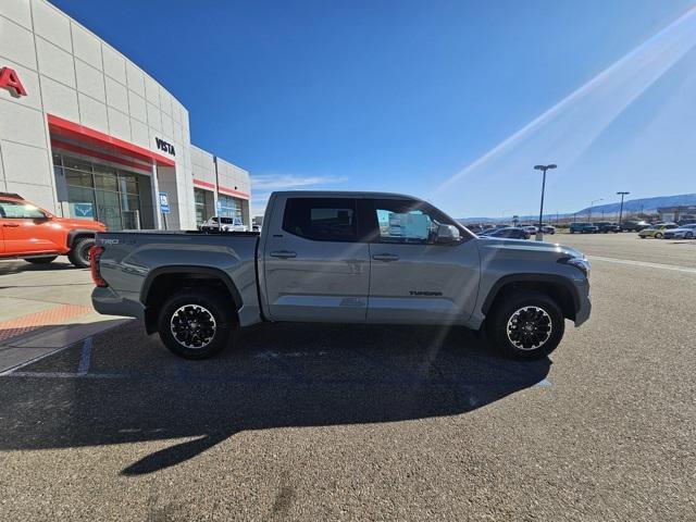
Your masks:
{"label": "white-paneled dealership building with red trim and VISTA sign", "polygon": [[251,224],[249,173],[191,145],[178,100],[45,0],[0,0],[0,191],[114,231]]}

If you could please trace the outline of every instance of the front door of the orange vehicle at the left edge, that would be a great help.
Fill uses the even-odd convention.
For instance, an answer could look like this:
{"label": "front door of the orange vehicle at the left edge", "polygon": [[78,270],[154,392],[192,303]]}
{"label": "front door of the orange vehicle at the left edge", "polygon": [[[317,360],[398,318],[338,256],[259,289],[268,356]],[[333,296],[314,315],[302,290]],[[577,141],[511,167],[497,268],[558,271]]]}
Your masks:
{"label": "front door of the orange vehicle at the left edge", "polygon": [[0,227],[5,254],[54,252],[50,240],[50,220],[38,208],[24,201],[0,201]]}

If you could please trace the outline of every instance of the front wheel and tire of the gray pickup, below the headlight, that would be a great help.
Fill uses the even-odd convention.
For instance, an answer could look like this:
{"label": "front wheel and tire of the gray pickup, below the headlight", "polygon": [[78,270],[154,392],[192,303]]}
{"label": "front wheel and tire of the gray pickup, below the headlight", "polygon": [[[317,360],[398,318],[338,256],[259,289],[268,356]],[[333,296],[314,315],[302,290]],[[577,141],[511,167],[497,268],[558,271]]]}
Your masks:
{"label": "front wheel and tire of the gray pickup, below the headlight", "polygon": [[[520,321],[535,331],[525,334],[518,330]],[[521,360],[540,359],[551,353],[563,338],[564,328],[566,320],[559,306],[537,291],[506,294],[486,320],[488,338],[496,348],[507,357]]]}

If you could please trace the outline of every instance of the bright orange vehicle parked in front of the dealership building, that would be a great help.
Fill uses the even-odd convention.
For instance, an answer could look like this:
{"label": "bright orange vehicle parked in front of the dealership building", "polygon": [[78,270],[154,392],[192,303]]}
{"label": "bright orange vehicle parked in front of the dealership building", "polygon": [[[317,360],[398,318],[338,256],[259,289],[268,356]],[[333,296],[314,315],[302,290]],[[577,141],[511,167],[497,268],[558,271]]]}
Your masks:
{"label": "bright orange vehicle parked in front of the dealership building", "polygon": [[89,266],[89,249],[103,223],[58,217],[16,194],[0,192],[0,259],[22,258],[50,263],[67,256],[79,268]]}

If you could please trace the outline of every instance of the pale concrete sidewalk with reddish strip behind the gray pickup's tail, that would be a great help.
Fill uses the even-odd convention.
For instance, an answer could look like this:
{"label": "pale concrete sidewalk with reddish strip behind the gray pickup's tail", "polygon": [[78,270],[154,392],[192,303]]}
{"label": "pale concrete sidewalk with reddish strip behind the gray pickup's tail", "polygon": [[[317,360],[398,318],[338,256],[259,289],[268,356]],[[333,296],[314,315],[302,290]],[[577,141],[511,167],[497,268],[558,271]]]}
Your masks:
{"label": "pale concrete sidewalk with reddish strip behind the gray pickup's tail", "polygon": [[0,261],[0,373],[129,321],[94,311],[89,270]]}

